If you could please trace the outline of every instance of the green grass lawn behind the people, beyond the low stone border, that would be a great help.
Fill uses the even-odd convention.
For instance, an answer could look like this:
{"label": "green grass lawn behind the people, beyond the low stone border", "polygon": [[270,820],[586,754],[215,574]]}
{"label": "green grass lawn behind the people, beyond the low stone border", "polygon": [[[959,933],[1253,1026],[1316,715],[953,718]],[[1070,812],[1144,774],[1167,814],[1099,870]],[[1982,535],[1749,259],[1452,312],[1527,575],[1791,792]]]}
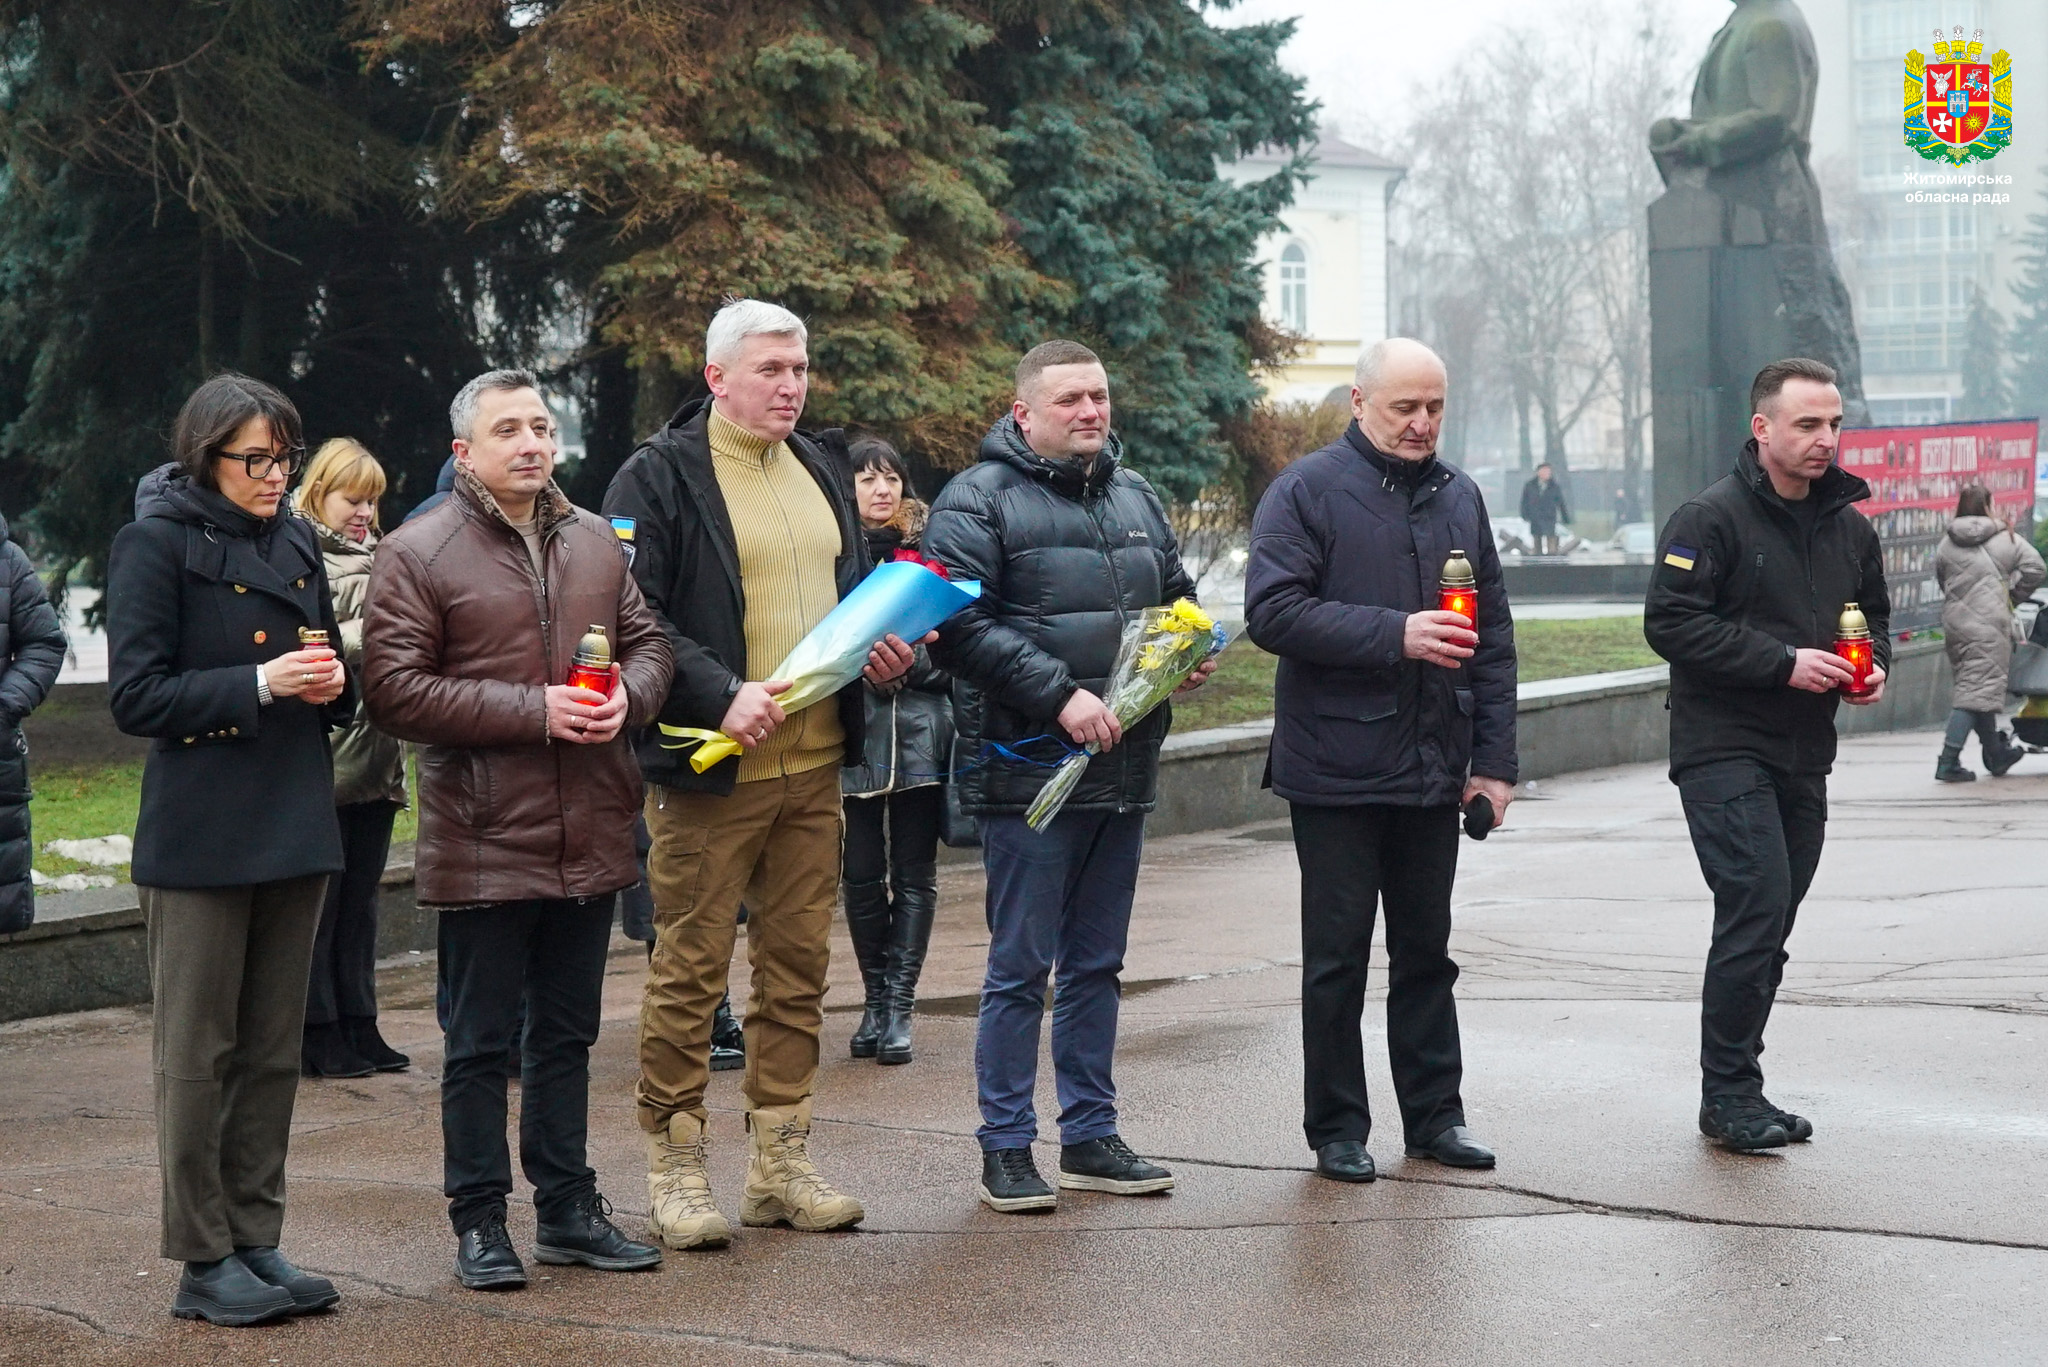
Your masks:
{"label": "green grass lawn behind the people, beyond the low stone border", "polygon": [[[1567,678],[1602,674],[1606,670],[1657,664],[1642,644],[1640,617],[1591,617],[1585,621],[1524,621],[1516,625],[1516,648],[1522,662],[1522,682],[1536,678]],[[1223,652],[1214,676],[1194,697],[1174,705],[1176,732],[1200,732],[1212,726],[1255,721],[1272,715],[1274,658],[1239,637]],[[51,877],[59,873],[113,873],[127,879],[127,865],[96,869],[43,853],[47,840],[86,840],[92,836],[135,834],[135,807],[141,799],[141,762],[127,760],[98,767],[41,769],[29,758],[35,785],[35,867]],[[418,793],[408,752],[408,791]],[[418,834],[414,810],[399,812],[393,840]]]}

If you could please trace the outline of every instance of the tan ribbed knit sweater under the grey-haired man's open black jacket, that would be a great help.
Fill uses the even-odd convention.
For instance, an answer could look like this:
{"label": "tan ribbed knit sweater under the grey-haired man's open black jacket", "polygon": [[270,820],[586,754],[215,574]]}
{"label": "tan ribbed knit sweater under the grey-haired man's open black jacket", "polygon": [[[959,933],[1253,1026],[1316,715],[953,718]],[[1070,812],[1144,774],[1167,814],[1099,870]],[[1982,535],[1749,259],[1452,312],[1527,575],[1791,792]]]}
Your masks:
{"label": "tan ribbed knit sweater under the grey-haired man's open black jacket", "polygon": [[[840,523],[788,443],[762,441],[727,422],[717,406],[705,430],[739,541],[748,674],[758,682],[838,607],[831,570],[840,555]],[[739,756],[739,783],[838,764],[844,746],[838,701],[813,703]]]}

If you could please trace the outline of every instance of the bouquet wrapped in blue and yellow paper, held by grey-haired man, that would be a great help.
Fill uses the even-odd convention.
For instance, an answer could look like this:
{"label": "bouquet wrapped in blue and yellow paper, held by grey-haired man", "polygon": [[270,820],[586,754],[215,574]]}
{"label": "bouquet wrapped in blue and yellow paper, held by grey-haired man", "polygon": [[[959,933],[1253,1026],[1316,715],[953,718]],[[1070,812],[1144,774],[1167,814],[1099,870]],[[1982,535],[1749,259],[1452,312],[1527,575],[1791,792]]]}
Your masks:
{"label": "bouquet wrapped in blue and yellow paper, held by grey-haired man", "polygon": [[[915,644],[963,607],[981,596],[981,584],[973,580],[948,580],[924,564],[893,560],[877,566],[868,578],[860,580],[854,592],[840,598],[811,633],[797,641],[788,658],[774,668],[768,678],[788,682],[788,693],[776,697],[786,713],[801,711],[811,703],[821,703],[846,685],[860,678],[868,662],[868,650],[885,635]],[[690,756],[690,769],[705,773],[719,760],[739,754],[741,746],[725,732],[694,726],[659,723],[668,750],[702,742]]]}

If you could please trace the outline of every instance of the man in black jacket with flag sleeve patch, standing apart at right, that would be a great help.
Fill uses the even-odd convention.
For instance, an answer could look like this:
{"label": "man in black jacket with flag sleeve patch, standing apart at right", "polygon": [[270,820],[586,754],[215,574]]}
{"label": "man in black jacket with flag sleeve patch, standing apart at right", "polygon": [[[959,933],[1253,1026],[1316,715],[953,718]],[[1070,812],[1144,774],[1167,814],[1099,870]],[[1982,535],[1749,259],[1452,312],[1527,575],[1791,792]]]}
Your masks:
{"label": "man in black jacket with flag sleeve patch, standing apart at right", "polygon": [[1763,1099],[1763,1023],[1786,937],[1821,863],[1837,689],[1829,646],[1845,603],[1870,619],[1884,695],[1890,598],[1878,533],[1849,504],[1870,486],[1835,465],[1841,391],[1819,361],[1774,361],[1749,389],[1735,471],[1665,523],[1642,633],[1671,662],[1671,781],[1714,889],[1700,1002],[1700,1133],[1733,1150],[1812,1137]]}

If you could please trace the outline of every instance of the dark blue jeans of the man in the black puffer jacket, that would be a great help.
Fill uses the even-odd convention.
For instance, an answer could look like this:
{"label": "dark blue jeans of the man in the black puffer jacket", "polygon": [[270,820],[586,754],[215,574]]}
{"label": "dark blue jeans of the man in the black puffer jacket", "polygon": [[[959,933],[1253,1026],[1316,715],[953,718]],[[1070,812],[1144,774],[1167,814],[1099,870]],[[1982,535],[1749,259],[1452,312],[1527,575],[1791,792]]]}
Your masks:
{"label": "dark blue jeans of the man in the black puffer jacket", "polygon": [[983,820],[989,974],[975,1037],[983,1150],[1038,1137],[1032,1092],[1049,976],[1061,1144],[1116,1133],[1118,974],[1143,848],[1139,812],[1063,812],[1044,830],[1030,830],[1022,816]]}

